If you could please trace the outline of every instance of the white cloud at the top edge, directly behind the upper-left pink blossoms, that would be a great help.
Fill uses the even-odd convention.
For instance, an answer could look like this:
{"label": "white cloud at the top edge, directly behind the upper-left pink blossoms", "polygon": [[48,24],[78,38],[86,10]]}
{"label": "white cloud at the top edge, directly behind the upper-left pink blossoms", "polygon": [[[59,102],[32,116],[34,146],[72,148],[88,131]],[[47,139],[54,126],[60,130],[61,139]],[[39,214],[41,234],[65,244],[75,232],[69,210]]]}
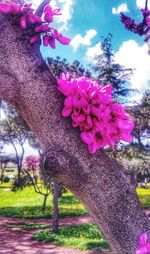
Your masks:
{"label": "white cloud at the top edge, directly behind the upper-left pink blossoms", "polygon": [[[37,7],[42,0],[32,0],[33,4]],[[51,0],[50,5],[52,8],[60,7],[61,16],[55,17],[56,23],[59,25],[59,31],[68,30],[69,22],[73,14],[74,0]]]}

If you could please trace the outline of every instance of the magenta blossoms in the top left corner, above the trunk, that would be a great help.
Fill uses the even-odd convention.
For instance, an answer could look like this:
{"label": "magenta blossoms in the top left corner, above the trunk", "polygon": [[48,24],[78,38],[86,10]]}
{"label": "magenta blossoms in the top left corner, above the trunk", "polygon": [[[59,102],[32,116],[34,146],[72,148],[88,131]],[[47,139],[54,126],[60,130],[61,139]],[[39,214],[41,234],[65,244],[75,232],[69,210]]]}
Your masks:
{"label": "magenta blossoms in the top left corner, above the trunk", "polygon": [[50,23],[53,22],[53,17],[61,15],[59,8],[53,10],[50,5],[45,6],[44,20],[42,20],[36,12],[34,12],[32,3],[23,5],[17,4],[13,1],[10,3],[0,3],[0,12],[5,14],[19,14],[20,26],[23,29],[26,29],[27,25],[35,25],[33,36],[30,39],[31,44],[41,41],[41,35],[43,45],[45,47],[50,46],[52,48],[56,48],[56,40],[63,45],[68,45],[70,43],[70,39],[68,37],[58,33],[55,28],[50,26]]}

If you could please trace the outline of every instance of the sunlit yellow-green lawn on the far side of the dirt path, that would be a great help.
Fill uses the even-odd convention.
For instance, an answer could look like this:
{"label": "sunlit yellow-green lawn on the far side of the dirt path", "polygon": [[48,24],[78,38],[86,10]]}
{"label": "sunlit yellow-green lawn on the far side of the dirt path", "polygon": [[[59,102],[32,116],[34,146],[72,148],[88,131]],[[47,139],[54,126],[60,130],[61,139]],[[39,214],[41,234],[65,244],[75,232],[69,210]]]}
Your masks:
{"label": "sunlit yellow-green lawn on the far side of the dirt path", "polygon": [[[34,192],[32,187],[13,192],[9,184],[0,186],[0,216],[19,218],[51,218],[52,196],[48,197],[47,209],[41,211],[43,196]],[[142,205],[150,209],[150,189],[137,189]],[[59,200],[60,217],[86,214],[87,211],[80,202],[70,193],[64,193]]]}

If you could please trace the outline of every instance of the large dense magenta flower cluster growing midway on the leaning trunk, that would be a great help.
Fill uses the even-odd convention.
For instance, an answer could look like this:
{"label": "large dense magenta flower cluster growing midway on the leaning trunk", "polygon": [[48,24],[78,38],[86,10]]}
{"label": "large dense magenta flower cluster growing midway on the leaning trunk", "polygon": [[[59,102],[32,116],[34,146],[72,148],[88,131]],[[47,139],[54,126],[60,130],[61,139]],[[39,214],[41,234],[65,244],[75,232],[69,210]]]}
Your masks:
{"label": "large dense magenta flower cluster growing midway on the leaning trunk", "polygon": [[114,147],[121,139],[132,141],[133,121],[123,106],[112,100],[112,87],[102,87],[86,77],[70,79],[61,74],[58,90],[66,96],[62,115],[71,117],[73,127],[79,127],[81,139],[90,153]]}

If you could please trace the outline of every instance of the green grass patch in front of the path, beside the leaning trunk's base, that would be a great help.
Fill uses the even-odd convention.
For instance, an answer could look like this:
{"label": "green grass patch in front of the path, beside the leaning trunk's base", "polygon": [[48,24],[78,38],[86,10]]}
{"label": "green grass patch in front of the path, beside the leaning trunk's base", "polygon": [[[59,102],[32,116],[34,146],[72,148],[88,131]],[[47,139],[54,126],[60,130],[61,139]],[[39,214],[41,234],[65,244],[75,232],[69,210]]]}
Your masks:
{"label": "green grass patch in front of the path, beside the leaning trunk's base", "polygon": [[32,238],[80,250],[102,250],[109,247],[98,228],[92,224],[62,227],[57,234],[44,230]]}

